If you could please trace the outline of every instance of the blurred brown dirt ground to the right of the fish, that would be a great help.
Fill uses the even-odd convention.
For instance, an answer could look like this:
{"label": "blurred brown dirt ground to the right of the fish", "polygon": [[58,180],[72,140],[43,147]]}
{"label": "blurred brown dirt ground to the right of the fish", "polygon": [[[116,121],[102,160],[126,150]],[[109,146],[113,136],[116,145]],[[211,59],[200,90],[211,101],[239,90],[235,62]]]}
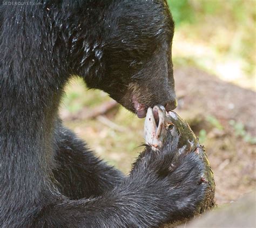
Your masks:
{"label": "blurred brown dirt ground to the right of the fish", "polygon": [[[175,75],[177,113],[196,134],[200,129],[207,131],[203,144],[214,172],[217,203],[234,201],[255,190],[255,144],[246,142],[230,122],[244,125],[247,134],[255,137],[256,93],[196,68],[180,68]],[[214,116],[221,127],[207,121],[208,116]]]}

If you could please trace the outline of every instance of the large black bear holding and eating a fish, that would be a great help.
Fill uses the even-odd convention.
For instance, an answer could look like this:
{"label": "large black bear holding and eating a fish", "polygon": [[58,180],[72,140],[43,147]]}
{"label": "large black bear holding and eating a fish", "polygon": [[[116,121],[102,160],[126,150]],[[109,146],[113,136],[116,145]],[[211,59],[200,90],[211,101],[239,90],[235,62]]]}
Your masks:
{"label": "large black bear holding and eating a fish", "polygon": [[139,118],[174,109],[173,30],[164,0],[2,2],[0,227],[152,227],[193,214],[205,191],[197,158],[170,169],[175,143],[159,157],[147,147],[124,176],[58,118],[72,75]]}

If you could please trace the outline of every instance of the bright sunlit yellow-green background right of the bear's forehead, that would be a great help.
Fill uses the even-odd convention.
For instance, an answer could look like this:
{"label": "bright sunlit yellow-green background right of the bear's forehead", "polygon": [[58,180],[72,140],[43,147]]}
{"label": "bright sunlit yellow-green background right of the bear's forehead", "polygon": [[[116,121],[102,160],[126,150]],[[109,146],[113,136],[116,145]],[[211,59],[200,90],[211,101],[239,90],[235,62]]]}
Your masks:
{"label": "bright sunlit yellow-green background right of the bear's forehead", "polygon": [[194,65],[246,88],[255,85],[254,0],[168,0],[176,65]]}

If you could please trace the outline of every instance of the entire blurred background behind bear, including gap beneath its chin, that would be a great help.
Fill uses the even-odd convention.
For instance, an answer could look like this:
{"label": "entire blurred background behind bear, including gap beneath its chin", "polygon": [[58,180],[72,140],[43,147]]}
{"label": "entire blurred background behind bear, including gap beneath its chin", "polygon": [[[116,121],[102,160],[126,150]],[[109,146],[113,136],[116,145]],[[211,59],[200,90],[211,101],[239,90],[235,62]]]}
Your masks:
{"label": "entire blurred background behind bear, including gap beneath its chin", "polygon": [[[255,189],[255,17],[253,0],[169,0],[176,22],[174,78],[179,106],[206,147],[217,203]],[[143,150],[143,122],[82,80],[66,88],[60,109],[97,155],[126,174]]]}

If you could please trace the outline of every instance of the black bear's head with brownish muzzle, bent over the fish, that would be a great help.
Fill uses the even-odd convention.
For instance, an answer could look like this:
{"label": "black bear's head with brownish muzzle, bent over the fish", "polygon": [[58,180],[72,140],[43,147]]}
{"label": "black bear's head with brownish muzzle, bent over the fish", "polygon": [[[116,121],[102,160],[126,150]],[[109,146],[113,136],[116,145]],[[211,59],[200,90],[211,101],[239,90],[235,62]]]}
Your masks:
{"label": "black bear's head with brownish muzzle, bent over the fish", "polygon": [[71,22],[73,74],[139,118],[157,104],[167,110],[176,108],[171,53],[174,22],[166,1],[85,2]]}

